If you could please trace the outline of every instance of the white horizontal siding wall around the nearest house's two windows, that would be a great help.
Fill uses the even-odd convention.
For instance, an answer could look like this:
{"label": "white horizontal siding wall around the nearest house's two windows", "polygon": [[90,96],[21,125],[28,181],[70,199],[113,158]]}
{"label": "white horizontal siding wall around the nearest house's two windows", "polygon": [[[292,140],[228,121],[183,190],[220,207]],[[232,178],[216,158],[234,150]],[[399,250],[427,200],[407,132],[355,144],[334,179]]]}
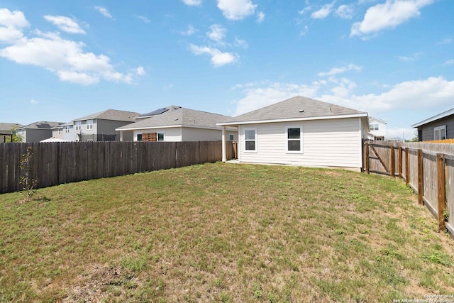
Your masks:
{"label": "white horizontal siding wall around the nearest house's two windows", "polygon": [[[361,167],[360,119],[326,119],[240,126],[240,162]],[[287,153],[286,126],[302,126],[303,153]],[[257,128],[256,153],[245,152],[244,129]]]}

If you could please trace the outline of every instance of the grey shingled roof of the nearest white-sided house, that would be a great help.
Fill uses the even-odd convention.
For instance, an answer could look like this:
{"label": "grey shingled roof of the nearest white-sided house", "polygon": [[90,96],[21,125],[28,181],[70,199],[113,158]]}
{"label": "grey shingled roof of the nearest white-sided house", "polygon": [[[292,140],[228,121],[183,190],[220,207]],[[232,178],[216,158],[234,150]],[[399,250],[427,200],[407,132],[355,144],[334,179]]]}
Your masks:
{"label": "grey shingled roof of the nearest white-sided house", "polygon": [[367,113],[301,96],[225,120],[218,125],[331,119],[349,116],[367,117]]}

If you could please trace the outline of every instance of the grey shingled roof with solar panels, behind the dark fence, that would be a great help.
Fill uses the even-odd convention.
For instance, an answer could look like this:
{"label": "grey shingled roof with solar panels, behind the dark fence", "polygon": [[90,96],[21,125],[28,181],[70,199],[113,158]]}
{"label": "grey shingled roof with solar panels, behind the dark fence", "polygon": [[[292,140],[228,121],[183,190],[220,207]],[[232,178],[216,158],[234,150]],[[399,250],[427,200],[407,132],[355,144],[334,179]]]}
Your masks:
{"label": "grey shingled roof with solar panels, behind the dark fence", "polygon": [[164,127],[199,127],[199,128],[219,128],[216,123],[230,117],[220,114],[213,114],[206,111],[196,111],[174,106],[172,111],[165,111],[162,114],[151,116],[135,123],[116,128],[117,131],[132,131],[144,128],[164,128]]}

